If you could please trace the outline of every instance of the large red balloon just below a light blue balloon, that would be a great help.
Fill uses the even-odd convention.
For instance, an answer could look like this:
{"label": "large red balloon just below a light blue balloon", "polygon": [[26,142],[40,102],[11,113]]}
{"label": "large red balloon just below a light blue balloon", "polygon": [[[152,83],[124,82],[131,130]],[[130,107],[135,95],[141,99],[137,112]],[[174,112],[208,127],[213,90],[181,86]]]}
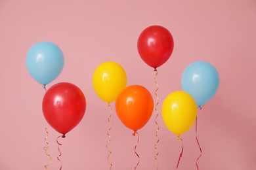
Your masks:
{"label": "large red balloon just below a light blue balloon", "polygon": [[65,135],[82,120],[86,101],[83,92],[74,84],[55,84],[43,97],[43,116],[53,129]]}

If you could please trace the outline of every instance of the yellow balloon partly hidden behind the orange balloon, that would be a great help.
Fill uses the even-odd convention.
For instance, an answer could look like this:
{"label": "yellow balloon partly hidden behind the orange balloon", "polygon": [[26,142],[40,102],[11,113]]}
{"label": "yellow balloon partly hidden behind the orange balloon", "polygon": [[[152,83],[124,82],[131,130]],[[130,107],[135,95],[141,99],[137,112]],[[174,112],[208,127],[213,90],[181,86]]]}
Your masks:
{"label": "yellow balloon partly hidden behind the orange balloon", "polygon": [[126,87],[126,84],[125,70],[114,61],[101,63],[93,73],[93,88],[98,97],[108,105],[116,101],[117,95]]}

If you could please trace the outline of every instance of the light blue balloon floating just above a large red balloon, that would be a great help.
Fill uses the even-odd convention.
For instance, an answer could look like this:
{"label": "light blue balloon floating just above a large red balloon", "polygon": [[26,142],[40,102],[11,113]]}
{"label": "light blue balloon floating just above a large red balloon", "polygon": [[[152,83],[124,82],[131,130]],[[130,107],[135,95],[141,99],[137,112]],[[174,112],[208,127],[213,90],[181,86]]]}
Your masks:
{"label": "light blue balloon floating just above a large red balloon", "polygon": [[53,42],[37,42],[28,51],[26,67],[37,82],[49,84],[60,75],[64,67],[62,50]]}

